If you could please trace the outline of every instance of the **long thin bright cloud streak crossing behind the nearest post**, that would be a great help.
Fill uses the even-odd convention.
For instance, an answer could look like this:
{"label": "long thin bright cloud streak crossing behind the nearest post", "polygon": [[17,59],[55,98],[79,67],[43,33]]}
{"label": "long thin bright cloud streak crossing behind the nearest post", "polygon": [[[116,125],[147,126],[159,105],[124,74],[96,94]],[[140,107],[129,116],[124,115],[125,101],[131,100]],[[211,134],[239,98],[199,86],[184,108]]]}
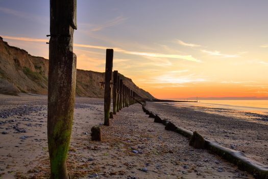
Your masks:
{"label": "long thin bright cloud streak crossing behind the nearest post", "polygon": [[[14,37],[14,36],[2,36],[6,39],[12,39],[12,40],[22,40],[22,41],[36,41],[36,42],[46,42],[47,39],[39,39],[39,38],[28,38],[28,37]],[[75,47],[82,47],[82,48],[90,48],[90,49],[109,49],[112,47],[105,47],[105,46],[94,46],[90,44],[80,44],[80,43],[74,43]],[[191,55],[177,55],[177,54],[159,54],[159,53],[151,53],[151,52],[135,52],[135,51],[129,51],[121,48],[113,48],[115,52],[124,53],[124,54],[130,54],[130,55],[138,55],[138,56],[144,56],[144,57],[163,57],[163,58],[177,58],[177,59],[184,59],[188,61],[194,61],[194,62],[202,62],[199,59],[196,59],[192,57]]]}

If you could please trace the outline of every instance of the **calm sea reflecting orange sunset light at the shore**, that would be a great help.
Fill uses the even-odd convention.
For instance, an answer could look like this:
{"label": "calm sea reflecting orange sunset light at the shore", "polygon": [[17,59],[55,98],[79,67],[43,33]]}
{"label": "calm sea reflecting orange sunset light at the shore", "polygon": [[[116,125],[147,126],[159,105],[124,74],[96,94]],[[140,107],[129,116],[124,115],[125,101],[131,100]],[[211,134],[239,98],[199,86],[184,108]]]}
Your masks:
{"label": "calm sea reflecting orange sunset light at the shore", "polygon": [[198,102],[166,102],[166,104],[268,124],[268,100],[200,100]]}

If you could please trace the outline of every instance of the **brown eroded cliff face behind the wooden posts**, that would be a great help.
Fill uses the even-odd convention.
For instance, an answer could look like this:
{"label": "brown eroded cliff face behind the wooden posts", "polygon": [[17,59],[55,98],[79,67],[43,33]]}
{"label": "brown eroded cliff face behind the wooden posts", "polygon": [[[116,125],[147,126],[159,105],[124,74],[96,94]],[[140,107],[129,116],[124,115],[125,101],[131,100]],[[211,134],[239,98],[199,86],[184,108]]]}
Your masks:
{"label": "brown eroded cliff face behind the wooden posts", "polygon": [[[143,98],[154,98],[150,93],[136,86],[130,78],[121,74],[124,83]],[[100,72],[77,70],[76,95],[103,98],[104,89],[100,81],[105,74]],[[27,51],[9,46],[0,37],[0,93],[17,95],[18,93],[47,94],[48,60],[35,57]]]}

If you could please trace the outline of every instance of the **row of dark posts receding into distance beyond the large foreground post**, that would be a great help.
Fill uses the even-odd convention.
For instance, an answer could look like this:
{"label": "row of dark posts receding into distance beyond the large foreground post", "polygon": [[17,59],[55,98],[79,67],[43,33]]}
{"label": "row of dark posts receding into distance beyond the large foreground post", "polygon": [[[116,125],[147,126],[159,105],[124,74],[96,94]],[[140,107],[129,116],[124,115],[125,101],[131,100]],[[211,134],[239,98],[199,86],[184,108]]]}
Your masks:
{"label": "row of dark posts receding into distance beyond the large foreground post", "polygon": [[[116,112],[139,102],[142,98],[127,85],[127,81],[119,76],[118,71],[113,71],[113,49],[106,50],[105,87],[104,87],[104,125],[110,125],[110,118]],[[125,83],[124,83],[125,82]],[[112,92],[112,93],[111,93]],[[113,99],[113,111],[111,108]]]}

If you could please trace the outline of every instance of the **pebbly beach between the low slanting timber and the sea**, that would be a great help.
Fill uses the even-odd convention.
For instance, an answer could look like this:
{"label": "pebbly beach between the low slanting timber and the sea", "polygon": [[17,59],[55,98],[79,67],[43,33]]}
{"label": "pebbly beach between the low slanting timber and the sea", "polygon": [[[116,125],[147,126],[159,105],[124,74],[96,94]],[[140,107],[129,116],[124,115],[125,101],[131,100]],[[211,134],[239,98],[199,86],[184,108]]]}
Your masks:
{"label": "pebbly beach between the low slanting timber and the sea", "polygon": [[206,139],[244,152],[250,159],[268,165],[268,122],[242,120],[196,111],[191,107],[175,107],[148,102],[149,110],[182,128],[198,131]]}

